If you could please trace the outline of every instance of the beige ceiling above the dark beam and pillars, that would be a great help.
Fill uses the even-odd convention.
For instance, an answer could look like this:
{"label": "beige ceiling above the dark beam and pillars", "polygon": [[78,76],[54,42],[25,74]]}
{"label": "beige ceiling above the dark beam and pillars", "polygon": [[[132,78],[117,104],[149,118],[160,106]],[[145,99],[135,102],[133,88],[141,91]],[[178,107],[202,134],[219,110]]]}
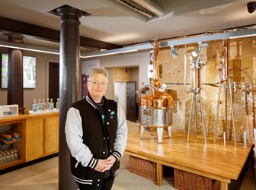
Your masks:
{"label": "beige ceiling above the dark beam and pillars", "polygon": [[[115,0],[0,0],[0,17],[60,30],[55,8],[69,5],[88,12],[81,17],[80,36],[125,46],[148,42],[156,36],[184,36],[256,24],[256,11],[248,13],[247,0],[152,0],[165,14],[151,21]],[[0,40],[7,36],[0,35]],[[58,47],[43,40],[24,43]]]}

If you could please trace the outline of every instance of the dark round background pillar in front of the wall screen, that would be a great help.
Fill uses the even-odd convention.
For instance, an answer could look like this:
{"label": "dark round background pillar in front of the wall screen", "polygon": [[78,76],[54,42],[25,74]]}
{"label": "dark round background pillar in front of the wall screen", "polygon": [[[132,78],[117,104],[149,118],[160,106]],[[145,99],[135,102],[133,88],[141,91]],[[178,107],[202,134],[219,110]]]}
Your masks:
{"label": "dark round background pillar in front of the wall screen", "polygon": [[[10,35],[8,41],[23,43],[23,36]],[[8,49],[8,93],[7,104],[23,107],[23,52],[21,49]]]}

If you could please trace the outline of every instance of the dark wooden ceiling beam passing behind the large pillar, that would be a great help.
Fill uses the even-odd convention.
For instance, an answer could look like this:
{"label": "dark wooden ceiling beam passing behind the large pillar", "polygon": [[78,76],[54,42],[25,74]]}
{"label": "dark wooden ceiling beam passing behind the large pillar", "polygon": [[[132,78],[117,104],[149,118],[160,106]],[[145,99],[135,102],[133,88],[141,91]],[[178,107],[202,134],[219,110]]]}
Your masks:
{"label": "dark wooden ceiling beam passing behind the large pillar", "polygon": [[[18,33],[23,36],[30,36],[40,40],[59,43],[59,30],[53,30],[47,27],[40,27],[38,25],[29,24],[23,21],[16,21],[7,17],[0,17],[0,31],[7,34]],[[80,36],[80,46],[96,49],[117,49],[122,47],[113,43],[106,43],[85,36]]]}

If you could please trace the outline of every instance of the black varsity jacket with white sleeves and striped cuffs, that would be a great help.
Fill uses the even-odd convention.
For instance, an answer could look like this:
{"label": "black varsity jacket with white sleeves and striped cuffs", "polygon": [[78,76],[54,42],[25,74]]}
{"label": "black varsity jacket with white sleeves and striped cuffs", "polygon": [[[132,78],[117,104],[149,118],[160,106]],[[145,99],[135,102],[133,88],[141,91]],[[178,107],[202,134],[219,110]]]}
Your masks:
{"label": "black varsity jacket with white sleeves and striped cuffs", "polygon": [[71,153],[71,172],[76,182],[85,185],[100,185],[103,173],[94,170],[98,159],[110,155],[117,162],[110,169],[117,176],[120,157],[126,147],[127,124],[120,105],[104,98],[104,122],[101,111],[88,94],[75,102],[67,112],[66,141]]}

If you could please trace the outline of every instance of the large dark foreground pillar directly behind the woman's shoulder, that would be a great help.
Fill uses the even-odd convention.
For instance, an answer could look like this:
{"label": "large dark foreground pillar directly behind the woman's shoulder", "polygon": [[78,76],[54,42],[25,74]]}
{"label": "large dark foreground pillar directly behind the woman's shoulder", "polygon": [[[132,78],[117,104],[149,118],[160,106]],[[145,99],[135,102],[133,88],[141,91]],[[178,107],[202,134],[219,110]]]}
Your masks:
{"label": "large dark foreground pillar directly behind the woman's shoulder", "polygon": [[65,123],[69,106],[81,99],[79,18],[82,11],[69,6],[57,9],[60,16],[59,55],[59,189],[78,189],[70,172],[70,152],[66,144]]}

